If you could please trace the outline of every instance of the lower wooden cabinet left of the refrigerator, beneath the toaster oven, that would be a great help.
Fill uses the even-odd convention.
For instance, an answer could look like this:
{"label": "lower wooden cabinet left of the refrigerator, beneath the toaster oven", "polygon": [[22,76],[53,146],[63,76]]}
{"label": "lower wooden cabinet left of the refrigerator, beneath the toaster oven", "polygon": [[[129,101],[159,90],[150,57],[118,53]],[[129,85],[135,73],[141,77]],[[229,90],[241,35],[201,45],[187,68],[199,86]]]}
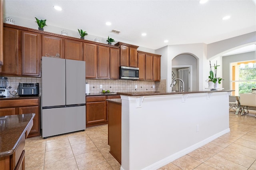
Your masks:
{"label": "lower wooden cabinet left of the refrigerator, beneath the toaster oven", "polygon": [[29,137],[40,136],[40,97],[0,100],[0,116],[35,113]]}

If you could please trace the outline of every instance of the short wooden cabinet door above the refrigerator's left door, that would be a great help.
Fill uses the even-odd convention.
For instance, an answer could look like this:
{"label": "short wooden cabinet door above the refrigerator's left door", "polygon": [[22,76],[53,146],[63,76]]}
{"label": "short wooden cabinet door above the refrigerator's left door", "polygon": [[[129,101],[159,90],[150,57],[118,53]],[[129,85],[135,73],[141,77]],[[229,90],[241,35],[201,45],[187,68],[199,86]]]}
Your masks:
{"label": "short wooden cabinet door above the refrigerator's left door", "polygon": [[61,58],[64,58],[62,52],[64,47],[62,44],[62,38],[42,35],[42,56],[45,56],[46,54],[55,56],[56,53],[58,53]]}

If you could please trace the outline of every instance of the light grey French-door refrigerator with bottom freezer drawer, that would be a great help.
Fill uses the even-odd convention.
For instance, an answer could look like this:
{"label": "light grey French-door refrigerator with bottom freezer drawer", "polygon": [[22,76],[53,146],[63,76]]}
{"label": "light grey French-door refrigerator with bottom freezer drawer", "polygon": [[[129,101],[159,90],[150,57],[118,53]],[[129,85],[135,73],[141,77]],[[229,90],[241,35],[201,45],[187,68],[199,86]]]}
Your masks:
{"label": "light grey French-door refrigerator with bottom freezer drawer", "polygon": [[86,128],[85,61],[42,57],[42,137]]}

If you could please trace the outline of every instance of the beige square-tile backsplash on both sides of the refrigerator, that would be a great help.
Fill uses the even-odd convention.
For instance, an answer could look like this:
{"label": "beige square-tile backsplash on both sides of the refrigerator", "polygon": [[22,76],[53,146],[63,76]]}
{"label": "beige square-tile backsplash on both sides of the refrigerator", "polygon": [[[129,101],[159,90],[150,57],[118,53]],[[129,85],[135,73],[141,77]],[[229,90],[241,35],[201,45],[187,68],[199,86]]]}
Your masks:
{"label": "beige square-tile backsplash on both sides of the refrigerator", "polygon": [[[42,79],[41,77],[8,77],[11,86],[10,92],[15,94],[15,89],[18,88],[19,83],[39,83],[39,93],[42,94]],[[136,91],[160,91],[166,92],[166,79],[161,81],[132,81],[132,80],[101,80],[101,79],[86,79],[90,85],[90,94],[100,93],[103,90],[111,92],[136,92]],[[102,89],[100,89],[102,85]],[[137,85],[137,89],[135,86]],[[18,93],[17,93],[18,95]]]}

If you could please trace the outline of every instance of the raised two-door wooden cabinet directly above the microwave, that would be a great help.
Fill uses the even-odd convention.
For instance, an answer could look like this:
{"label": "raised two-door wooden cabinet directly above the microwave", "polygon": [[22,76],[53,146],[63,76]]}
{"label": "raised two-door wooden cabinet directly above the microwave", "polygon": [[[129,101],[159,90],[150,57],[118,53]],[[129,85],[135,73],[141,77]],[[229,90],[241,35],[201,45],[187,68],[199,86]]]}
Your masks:
{"label": "raised two-door wooden cabinet directly above the microwave", "polygon": [[138,67],[137,48],[139,46],[118,42],[115,44],[120,46],[120,65],[127,67]]}

